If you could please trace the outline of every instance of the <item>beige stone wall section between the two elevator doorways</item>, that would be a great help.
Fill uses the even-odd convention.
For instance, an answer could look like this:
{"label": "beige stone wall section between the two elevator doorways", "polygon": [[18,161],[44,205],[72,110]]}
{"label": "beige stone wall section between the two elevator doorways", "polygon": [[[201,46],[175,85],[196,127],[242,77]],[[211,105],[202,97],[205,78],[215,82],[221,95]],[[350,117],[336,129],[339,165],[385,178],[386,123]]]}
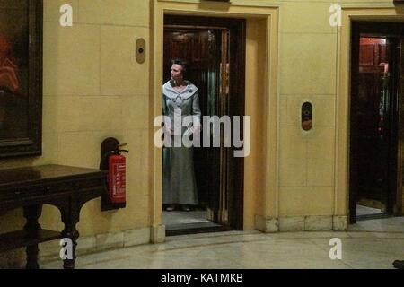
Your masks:
{"label": "beige stone wall section between the two elevator doorways", "polygon": [[[280,24],[279,216],[334,213],[337,28],[328,3],[284,3]],[[313,128],[301,128],[304,101]]]}

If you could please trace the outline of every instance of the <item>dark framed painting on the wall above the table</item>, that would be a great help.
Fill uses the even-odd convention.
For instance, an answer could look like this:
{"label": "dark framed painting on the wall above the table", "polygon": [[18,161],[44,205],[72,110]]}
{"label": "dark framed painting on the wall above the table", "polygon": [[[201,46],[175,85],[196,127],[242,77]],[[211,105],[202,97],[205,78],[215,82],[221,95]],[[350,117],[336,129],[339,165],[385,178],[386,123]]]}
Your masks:
{"label": "dark framed painting on the wall above the table", "polygon": [[0,0],[0,158],[41,154],[42,0]]}

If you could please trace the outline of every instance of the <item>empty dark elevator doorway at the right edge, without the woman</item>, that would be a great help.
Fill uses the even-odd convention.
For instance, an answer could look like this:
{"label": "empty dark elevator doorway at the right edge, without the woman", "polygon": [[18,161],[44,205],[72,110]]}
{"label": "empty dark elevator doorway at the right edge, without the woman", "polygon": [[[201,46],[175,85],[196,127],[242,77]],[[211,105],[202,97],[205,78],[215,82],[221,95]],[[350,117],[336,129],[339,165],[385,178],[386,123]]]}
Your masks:
{"label": "empty dark elevator doorway at the right edge, without the woman", "polygon": [[402,213],[404,24],[353,22],[350,223]]}

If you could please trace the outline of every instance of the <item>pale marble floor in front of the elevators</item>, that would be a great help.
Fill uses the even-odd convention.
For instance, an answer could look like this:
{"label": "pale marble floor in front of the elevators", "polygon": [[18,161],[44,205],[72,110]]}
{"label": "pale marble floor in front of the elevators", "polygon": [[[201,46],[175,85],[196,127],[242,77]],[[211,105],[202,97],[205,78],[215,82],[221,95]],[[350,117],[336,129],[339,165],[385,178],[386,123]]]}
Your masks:
{"label": "pale marble floor in front of the elevators", "polygon": [[[329,257],[340,239],[341,259]],[[77,258],[79,269],[392,269],[404,259],[404,217],[358,222],[347,232],[228,231],[167,237],[162,244]],[[61,268],[61,261],[41,264]]]}

